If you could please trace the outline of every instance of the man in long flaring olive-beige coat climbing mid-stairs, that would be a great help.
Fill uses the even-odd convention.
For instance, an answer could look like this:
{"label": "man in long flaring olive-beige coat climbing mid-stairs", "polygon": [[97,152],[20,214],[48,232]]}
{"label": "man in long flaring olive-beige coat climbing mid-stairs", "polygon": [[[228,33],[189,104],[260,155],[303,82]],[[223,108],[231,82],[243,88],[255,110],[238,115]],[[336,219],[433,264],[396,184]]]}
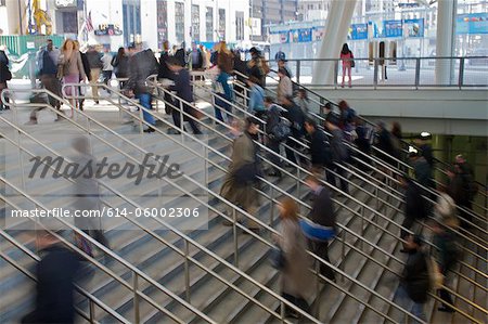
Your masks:
{"label": "man in long flaring olive-beige coat climbing mid-stairs", "polygon": [[[259,121],[254,117],[247,117],[243,134],[234,140],[229,173],[220,190],[222,197],[251,215],[255,215],[259,205],[259,196],[254,189],[258,185],[258,177],[262,176],[257,156],[258,146],[254,142],[258,139],[258,130]],[[236,215],[237,221],[241,221],[241,218]],[[226,220],[222,224],[229,226],[233,223]],[[247,228],[254,232],[259,231],[258,224],[251,219],[247,220]]]}

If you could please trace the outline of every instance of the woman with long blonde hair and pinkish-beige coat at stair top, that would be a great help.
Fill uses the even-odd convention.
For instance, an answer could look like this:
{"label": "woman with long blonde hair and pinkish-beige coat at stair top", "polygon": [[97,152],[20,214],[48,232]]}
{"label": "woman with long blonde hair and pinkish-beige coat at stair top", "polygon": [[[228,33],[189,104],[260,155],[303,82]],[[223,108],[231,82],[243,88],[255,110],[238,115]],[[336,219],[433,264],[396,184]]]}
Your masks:
{"label": "woman with long blonde hair and pinkish-beige coat at stair top", "polygon": [[[85,74],[84,63],[79,50],[76,48],[76,43],[73,39],[66,39],[61,48],[60,56],[60,77],[63,79],[63,83],[78,83],[80,80],[85,80],[87,75]],[[68,87],[65,90],[67,95],[78,95],[78,87]],[[72,116],[74,114],[74,107],[76,107],[76,100],[69,99],[72,104]],[[56,119],[59,120],[59,118]]]}

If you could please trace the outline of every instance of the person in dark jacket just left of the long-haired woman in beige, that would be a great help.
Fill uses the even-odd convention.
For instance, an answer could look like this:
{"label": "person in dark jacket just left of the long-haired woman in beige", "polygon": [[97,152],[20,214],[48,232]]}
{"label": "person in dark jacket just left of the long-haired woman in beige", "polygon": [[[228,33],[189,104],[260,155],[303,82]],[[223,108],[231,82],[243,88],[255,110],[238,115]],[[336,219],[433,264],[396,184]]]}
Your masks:
{"label": "person in dark jacket just left of the long-haired woman in beige", "polygon": [[[61,83],[57,79],[57,62],[61,51],[55,48],[51,39],[47,40],[46,48],[42,48],[38,54],[39,79],[42,87],[52,93],[61,96]],[[55,98],[49,95],[49,104],[52,107],[61,108],[61,103]]]}

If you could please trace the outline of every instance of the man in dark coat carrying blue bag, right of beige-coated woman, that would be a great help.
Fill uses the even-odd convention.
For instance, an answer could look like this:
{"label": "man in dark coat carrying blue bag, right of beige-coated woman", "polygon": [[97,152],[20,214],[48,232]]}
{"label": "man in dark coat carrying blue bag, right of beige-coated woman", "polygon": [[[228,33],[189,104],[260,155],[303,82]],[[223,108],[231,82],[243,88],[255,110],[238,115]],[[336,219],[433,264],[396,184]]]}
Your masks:
{"label": "man in dark coat carrying blue bag, right of beige-coated woman", "polygon": [[[305,182],[314,195],[312,208],[308,218],[319,225],[336,228],[335,211],[329,190],[322,186],[319,179],[314,176],[309,176],[305,180]],[[331,260],[329,259],[329,242],[310,241],[310,248],[317,256],[324,259],[329,263],[331,262]],[[334,271],[331,267],[321,263],[320,273],[331,281],[335,282]]]}

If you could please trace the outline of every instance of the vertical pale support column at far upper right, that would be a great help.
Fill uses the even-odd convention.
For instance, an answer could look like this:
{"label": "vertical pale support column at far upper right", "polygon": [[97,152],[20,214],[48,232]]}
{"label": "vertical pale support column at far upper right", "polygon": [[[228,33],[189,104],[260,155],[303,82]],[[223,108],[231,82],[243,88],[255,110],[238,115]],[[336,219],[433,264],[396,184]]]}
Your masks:
{"label": "vertical pale support column at far upper right", "polygon": [[[454,56],[455,53],[455,15],[458,0],[437,2],[437,40],[436,56]],[[454,60],[436,60],[436,83],[454,82]]]}

